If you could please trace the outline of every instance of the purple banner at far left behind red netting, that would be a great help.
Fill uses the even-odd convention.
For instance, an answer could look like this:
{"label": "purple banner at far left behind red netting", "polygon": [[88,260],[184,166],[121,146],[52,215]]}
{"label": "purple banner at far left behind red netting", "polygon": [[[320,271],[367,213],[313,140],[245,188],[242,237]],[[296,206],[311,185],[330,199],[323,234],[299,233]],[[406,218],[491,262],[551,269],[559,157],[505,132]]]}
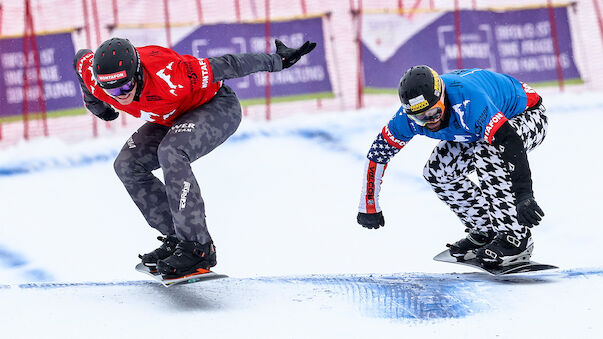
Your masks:
{"label": "purple banner at far left behind red netting", "polygon": [[[27,98],[28,111],[40,112],[40,96],[46,100],[46,110],[56,111],[83,107],[82,94],[73,70],[75,54],[71,33],[49,34],[37,37],[40,56],[40,76],[43,93],[38,87],[38,72],[34,54],[23,54],[23,39],[0,39],[0,118],[23,113]],[[29,45],[31,49],[31,44]],[[24,77],[29,88],[24,93]]]}

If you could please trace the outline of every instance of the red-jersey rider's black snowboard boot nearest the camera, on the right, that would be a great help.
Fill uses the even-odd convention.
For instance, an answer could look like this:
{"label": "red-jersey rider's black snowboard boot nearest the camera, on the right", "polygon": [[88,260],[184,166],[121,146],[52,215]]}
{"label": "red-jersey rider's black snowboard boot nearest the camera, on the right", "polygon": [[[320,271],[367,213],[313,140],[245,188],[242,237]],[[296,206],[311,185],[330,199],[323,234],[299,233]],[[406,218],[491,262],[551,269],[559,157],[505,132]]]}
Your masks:
{"label": "red-jersey rider's black snowboard boot nearest the camera, on the right", "polygon": [[174,253],[157,262],[157,270],[166,279],[208,273],[216,266],[216,248],[212,242],[181,241]]}

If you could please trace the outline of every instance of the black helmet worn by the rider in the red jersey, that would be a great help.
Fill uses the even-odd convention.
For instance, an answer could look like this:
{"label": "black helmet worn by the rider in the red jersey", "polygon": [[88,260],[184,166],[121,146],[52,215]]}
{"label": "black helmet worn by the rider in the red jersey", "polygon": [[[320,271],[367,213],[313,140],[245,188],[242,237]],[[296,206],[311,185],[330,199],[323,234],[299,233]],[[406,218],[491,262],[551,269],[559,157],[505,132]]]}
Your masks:
{"label": "black helmet worn by the rider in the red jersey", "polygon": [[128,39],[103,42],[94,53],[94,77],[102,88],[123,86],[140,75],[138,51]]}

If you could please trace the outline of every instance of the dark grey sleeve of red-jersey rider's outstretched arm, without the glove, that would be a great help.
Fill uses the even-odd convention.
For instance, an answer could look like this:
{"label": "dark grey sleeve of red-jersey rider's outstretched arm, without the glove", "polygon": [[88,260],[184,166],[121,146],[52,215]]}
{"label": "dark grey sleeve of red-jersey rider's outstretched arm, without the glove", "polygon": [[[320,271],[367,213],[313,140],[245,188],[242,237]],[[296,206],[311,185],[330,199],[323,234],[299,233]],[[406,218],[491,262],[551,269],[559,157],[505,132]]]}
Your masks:
{"label": "dark grey sleeve of red-jersey rider's outstretched arm, without the glove", "polygon": [[283,69],[282,58],[277,54],[226,54],[208,60],[214,82],[241,78],[256,72],[278,72]]}

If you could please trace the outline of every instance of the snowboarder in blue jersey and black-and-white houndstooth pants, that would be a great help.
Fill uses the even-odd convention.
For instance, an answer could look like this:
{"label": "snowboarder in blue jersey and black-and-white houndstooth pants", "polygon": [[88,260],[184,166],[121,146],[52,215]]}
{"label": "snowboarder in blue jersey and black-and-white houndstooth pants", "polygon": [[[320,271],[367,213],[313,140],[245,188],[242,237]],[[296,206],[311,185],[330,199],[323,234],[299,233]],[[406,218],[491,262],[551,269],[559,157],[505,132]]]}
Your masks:
{"label": "snowboarder in blue jersey and black-and-white houndstooth pants", "polygon": [[[423,176],[468,231],[447,244],[450,254],[489,267],[529,261],[530,228],[544,216],[526,156],[546,135],[541,97],[505,74],[475,68],[440,76],[428,66],[410,68],[398,94],[402,107],[367,155],[358,223],[371,229],[385,224],[379,207],[384,171],[413,136],[422,134],[442,140]],[[468,178],[472,172],[479,184]]]}

